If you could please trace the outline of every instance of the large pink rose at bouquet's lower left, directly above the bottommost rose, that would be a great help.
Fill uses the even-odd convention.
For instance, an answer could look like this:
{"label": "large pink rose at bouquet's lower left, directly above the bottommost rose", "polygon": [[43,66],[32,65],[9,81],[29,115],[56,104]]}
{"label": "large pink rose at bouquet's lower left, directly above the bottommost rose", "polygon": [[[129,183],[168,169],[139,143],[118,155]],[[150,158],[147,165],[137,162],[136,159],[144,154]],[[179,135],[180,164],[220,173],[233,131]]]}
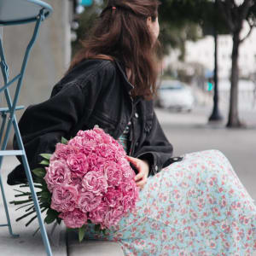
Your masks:
{"label": "large pink rose at bouquet's lower left, directly above the bottommost rose", "polygon": [[72,185],[61,185],[53,189],[50,207],[57,212],[74,210],[79,197],[78,189]]}

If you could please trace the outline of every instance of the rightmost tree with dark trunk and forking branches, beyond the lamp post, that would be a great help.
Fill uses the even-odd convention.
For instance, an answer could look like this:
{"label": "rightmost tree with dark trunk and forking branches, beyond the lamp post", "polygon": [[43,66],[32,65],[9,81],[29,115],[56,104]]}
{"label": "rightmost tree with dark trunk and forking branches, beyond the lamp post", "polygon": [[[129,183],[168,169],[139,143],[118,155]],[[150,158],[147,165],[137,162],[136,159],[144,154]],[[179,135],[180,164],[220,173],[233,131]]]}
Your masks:
{"label": "rightmost tree with dark trunk and forking branches, beyond the lamp post", "polygon": [[[253,27],[256,26],[256,2],[254,0],[216,0],[218,9],[224,17],[230,34],[233,38],[232,68],[231,68],[231,90],[230,90],[230,112],[227,127],[241,127],[238,116],[238,57],[239,47],[246,40]],[[244,38],[241,38],[241,29],[244,21],[247,21],[250,29]]]}

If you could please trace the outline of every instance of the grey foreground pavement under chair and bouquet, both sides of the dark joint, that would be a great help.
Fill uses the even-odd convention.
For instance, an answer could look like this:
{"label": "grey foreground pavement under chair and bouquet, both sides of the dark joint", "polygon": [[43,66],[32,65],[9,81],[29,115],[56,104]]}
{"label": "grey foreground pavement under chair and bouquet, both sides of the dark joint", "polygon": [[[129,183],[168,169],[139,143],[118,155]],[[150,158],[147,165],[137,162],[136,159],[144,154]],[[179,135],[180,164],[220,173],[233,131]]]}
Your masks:
{"label": "grey foreground pavement under chair and bouquet, both sides of the dark joint", "polygon": [[[6,157],[3,159],[1,176],[8,202],[15,200],[14,189],[20,189],[19,186],[9,186],[6,184],[9,171],[18,165],[18,163],[19,162],[15,159],[15,157]],[[36,236],[32,236],[34,231],[38,229],[38,220],[35,219],[28,227],[26,227],[25,224],[30,218],[24,218],[19,222],[15,222],[16,218],[19,218],[21,214],[24,214],[22,209],[15,211],[16,208],[17,207],[14,205],[9,205],[9,215],[13,232],[20,235],[20,237],[13,238],[9,235],[8,227],[0,227],[0,255],[46,255],[44,250],[44,243],[40,233],[38,232]],[[0,196],[0,209],[0,224],[7,224],[2,196]],[[124,256],[121,247],[116,242],[84,241],[79,243],[78,234],[75,232],[67,233],[64,224],[61,224],[61,226],[58,225],[55,228],[53,234],[51,234],[52,228],[52,224],[46,225],[49,242],[51,244],[51,249],[54,256]]]}

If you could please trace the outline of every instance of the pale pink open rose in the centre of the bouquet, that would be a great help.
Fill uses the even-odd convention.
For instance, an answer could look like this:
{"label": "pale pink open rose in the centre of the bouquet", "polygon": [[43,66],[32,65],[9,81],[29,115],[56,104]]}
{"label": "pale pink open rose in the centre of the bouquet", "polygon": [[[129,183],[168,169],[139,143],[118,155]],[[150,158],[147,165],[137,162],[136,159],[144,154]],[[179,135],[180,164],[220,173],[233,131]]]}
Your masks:
{"label": "pale pink open rose in the centre of the bouquet", "polygon": [[101,172],[87,172],[82,180],[84,191],[93,192],[95,195],[102,195],[108,189],[108,182]]}

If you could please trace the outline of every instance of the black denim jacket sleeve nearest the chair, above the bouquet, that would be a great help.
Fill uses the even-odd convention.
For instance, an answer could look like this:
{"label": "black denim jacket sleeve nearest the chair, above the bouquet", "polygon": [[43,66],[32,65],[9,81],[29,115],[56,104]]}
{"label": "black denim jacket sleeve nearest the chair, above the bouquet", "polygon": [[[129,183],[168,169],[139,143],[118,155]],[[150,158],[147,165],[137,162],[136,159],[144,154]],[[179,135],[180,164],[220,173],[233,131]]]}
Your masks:
{"label": "black denim jacket sleeve nearest the chair, above the bouquet", "polygon": [[[90,73],[83,67],[71,71],[55,84],[47,101],[26,108],[19,128],[31,169],[42,160],[39,154],[53,153],[61,137],[69,139],[81,120],[89,118],[102,87],[108,86],[113,78],[113,69],[106,64],[97,64]],[[18,149],[16,137],[13,145]]]}

